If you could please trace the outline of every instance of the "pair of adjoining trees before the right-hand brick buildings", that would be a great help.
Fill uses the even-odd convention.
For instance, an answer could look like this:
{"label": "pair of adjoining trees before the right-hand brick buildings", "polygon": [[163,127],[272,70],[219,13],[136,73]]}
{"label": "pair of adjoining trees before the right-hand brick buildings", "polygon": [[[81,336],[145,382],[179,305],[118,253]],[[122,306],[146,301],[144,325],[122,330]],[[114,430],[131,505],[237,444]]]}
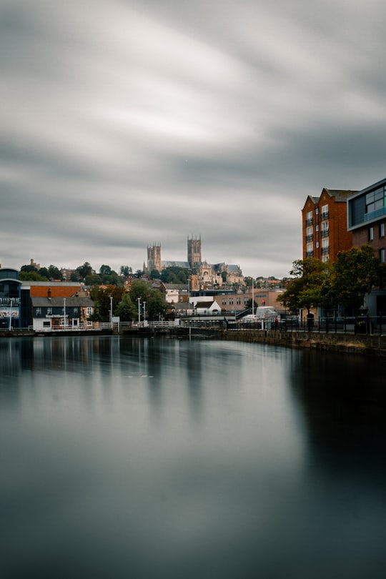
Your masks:
{"label": "pair of adjoining trees before the right-hand brick buildings", "polygon": [[297,259],[289,274],[293,279],[277,297],[289,311],[310,313],[312,307],[322,307],[327,315],[339,311],[350,316],[360,312],[373,287],[384,287],[386,265],[372,247],[362,245],[339,252],[333,264],[315,257]]}

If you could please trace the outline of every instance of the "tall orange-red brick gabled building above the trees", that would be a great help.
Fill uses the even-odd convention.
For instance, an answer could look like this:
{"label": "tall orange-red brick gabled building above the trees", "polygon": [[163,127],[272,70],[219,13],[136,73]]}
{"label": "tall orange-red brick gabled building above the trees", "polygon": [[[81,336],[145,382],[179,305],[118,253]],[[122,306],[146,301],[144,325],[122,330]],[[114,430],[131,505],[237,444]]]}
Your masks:
{"label": "tall orange-red brick gabled building above the trees", "polygon": [[307,197],[302,209],[303,259],[316,257],[335,262],[340,251],[352,247],[347,230],[347,199],[356,191],[322,189],[320,197]]}

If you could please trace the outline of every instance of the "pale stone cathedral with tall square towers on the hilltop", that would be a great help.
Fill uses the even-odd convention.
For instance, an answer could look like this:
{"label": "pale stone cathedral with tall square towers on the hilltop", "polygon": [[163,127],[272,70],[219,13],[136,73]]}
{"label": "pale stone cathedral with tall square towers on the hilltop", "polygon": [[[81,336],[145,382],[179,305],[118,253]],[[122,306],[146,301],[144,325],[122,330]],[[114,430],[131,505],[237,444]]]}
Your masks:
{"label": "pale stone cathedral with tall square towers on the hilltop", "polygon": [[167,267],[184,267],[191,269],[191,289],[197,290],[202,284],[222,286],[222,284],[244,285],[244,276],[239,265],[225,262],[211,264],[206,259],[202,261],[202,243],[200,237],[187,238],[187,261],[163,261],[161,244],[154,243],[147,247],[147,264],[144,263],[144,272],[151,274],[154,270],[162,272]]}

